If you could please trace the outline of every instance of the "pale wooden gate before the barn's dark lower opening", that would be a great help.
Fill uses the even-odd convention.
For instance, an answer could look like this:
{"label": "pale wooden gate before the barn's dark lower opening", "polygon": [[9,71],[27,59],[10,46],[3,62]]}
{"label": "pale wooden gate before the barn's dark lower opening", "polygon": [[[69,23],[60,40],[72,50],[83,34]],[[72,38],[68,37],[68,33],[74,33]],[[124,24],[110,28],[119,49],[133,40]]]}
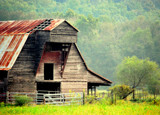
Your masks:
{"label": "pale wooden gate before the barn's dark lower opening", "polygon": [[44,94],[44,104],[82,105],[83,93]]}

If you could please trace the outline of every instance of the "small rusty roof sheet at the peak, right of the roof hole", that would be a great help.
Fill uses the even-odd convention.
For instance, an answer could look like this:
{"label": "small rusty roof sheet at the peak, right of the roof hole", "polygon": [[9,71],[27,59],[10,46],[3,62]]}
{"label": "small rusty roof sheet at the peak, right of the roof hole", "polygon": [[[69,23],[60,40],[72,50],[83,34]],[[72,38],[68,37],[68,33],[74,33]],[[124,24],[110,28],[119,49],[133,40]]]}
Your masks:
{"label": "small rusty roof sheet at the peak, right of the roof hole", "polygon": [[61,24],[64,21],[65,21],[64,19],[52,20],[51,24],[49,26],[47,26],[46,28],[44,28],[44,30],[53,30],[55,27],[57,27],[59,24]]}

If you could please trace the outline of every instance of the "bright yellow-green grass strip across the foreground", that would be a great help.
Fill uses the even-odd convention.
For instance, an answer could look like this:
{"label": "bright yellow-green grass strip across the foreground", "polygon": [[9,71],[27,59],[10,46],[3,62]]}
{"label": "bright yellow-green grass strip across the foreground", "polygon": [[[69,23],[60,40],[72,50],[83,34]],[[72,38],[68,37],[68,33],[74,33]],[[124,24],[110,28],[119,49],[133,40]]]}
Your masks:
{"label": "bright yellow-green grass strip across the foreground", "polygon": [[81,106],[7,106],[0,107],[0,115],[160,115],[160,106],[147,103],[121,102],[117,105],[87,104]]}

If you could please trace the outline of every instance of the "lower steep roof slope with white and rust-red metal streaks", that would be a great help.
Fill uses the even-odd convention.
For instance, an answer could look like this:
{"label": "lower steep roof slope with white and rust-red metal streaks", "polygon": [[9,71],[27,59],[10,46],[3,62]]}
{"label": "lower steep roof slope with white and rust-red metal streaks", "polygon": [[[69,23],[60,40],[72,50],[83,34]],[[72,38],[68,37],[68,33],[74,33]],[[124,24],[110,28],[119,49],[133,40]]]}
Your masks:
{"label": "lower steep roof slope with white and rust-red metal streaks", "polygon": [[29,33],[0,36],[0,70],[9,70],[15,63]]}

